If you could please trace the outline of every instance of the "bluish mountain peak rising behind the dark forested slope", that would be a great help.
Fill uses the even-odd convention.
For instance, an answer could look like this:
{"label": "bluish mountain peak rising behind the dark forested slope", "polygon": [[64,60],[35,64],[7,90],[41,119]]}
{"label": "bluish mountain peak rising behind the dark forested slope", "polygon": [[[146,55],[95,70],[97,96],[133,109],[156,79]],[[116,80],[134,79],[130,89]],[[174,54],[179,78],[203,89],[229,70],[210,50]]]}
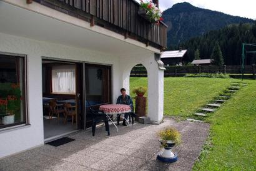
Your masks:
{"label": "bluish mountain peak rising behind the dark forested slope", "polygon": [[169,26],[167,29],[167,47],[229,24],[254,22],[252,19],[195,7],[188,2],[174,4],[165,10],[162,16],[165,24]]}

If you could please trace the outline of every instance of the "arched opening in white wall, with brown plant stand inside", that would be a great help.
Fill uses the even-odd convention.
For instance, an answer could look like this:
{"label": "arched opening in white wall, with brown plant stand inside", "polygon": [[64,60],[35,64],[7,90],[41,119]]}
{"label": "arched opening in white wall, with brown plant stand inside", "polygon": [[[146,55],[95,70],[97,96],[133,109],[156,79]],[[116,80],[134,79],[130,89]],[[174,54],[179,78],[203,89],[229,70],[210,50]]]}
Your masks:
{"label": "arched opening in white wall, with brown plant stand inside", "polygon": [[[135,89],[139,87],[143,87],[146,90],[143,97],[136,97]],[[130,97],[134,102],[134,112],[137,114],[138,117],[140,116],[147,116],[147,107],[148,107],[148,78],[147,78],[147,69],[142,64],[137,64],[132,67],[130,71]],[[137,103],[136,103],[137,100]],[[145,100],[145,101],[144,101]],[[140,107],[136,107],[136,105],[140,104]],[[145,107],[143,107],[145,105]]]}

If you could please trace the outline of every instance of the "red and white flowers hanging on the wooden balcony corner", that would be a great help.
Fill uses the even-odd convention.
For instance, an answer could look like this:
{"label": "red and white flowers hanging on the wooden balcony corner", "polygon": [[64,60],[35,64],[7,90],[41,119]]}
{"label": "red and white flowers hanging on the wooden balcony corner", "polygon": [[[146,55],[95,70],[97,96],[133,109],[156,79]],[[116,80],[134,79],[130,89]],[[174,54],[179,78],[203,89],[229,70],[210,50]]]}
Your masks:
{"label": "red and white flowers hanging on the wooden balcony corner", "polygon": [[157,22],[159,24],[159,22],[163,20],[162,12],[152,1],[140,0],[140,9],[138,14],[152,23]]}

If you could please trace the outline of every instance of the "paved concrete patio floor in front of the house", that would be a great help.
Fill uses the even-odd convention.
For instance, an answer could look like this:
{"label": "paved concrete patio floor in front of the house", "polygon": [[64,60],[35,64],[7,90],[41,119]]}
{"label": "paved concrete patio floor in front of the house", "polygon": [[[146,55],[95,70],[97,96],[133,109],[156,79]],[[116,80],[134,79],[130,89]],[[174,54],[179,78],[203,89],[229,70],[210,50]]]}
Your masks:
{"label": "paved concrete patio floor in front of the house", "polygon": [[[182,134],[182,144],[173,151],[179,160],[166,164],[156,160],[161,150],[156,132],[174,126]],[[165,117],[160,125],[138,124],[116,132],[110,125],[106,136],[104,126],[71,135],[73,142],[53,147],[43,145],[0,160],[0,170],[191,170],[209,134],[209,124],[180,121]]]}

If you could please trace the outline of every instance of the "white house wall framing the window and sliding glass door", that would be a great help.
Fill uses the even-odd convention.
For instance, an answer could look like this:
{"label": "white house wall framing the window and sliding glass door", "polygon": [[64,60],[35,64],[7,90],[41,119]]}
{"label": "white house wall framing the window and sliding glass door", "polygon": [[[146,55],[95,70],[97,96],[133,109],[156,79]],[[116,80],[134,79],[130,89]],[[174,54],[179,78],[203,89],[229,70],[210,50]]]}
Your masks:
{"label": "white house wall framing the window and sliding glass door", "polygon": [[0,130],[0,158],[44,144],[42,119],[42,57],[69,59],[112,65],[113,101],[121,87],[119,57],[75,47],[34,41],[0,32],[0,52],[27,56],[27,104],[29,124],[25,127]]}

